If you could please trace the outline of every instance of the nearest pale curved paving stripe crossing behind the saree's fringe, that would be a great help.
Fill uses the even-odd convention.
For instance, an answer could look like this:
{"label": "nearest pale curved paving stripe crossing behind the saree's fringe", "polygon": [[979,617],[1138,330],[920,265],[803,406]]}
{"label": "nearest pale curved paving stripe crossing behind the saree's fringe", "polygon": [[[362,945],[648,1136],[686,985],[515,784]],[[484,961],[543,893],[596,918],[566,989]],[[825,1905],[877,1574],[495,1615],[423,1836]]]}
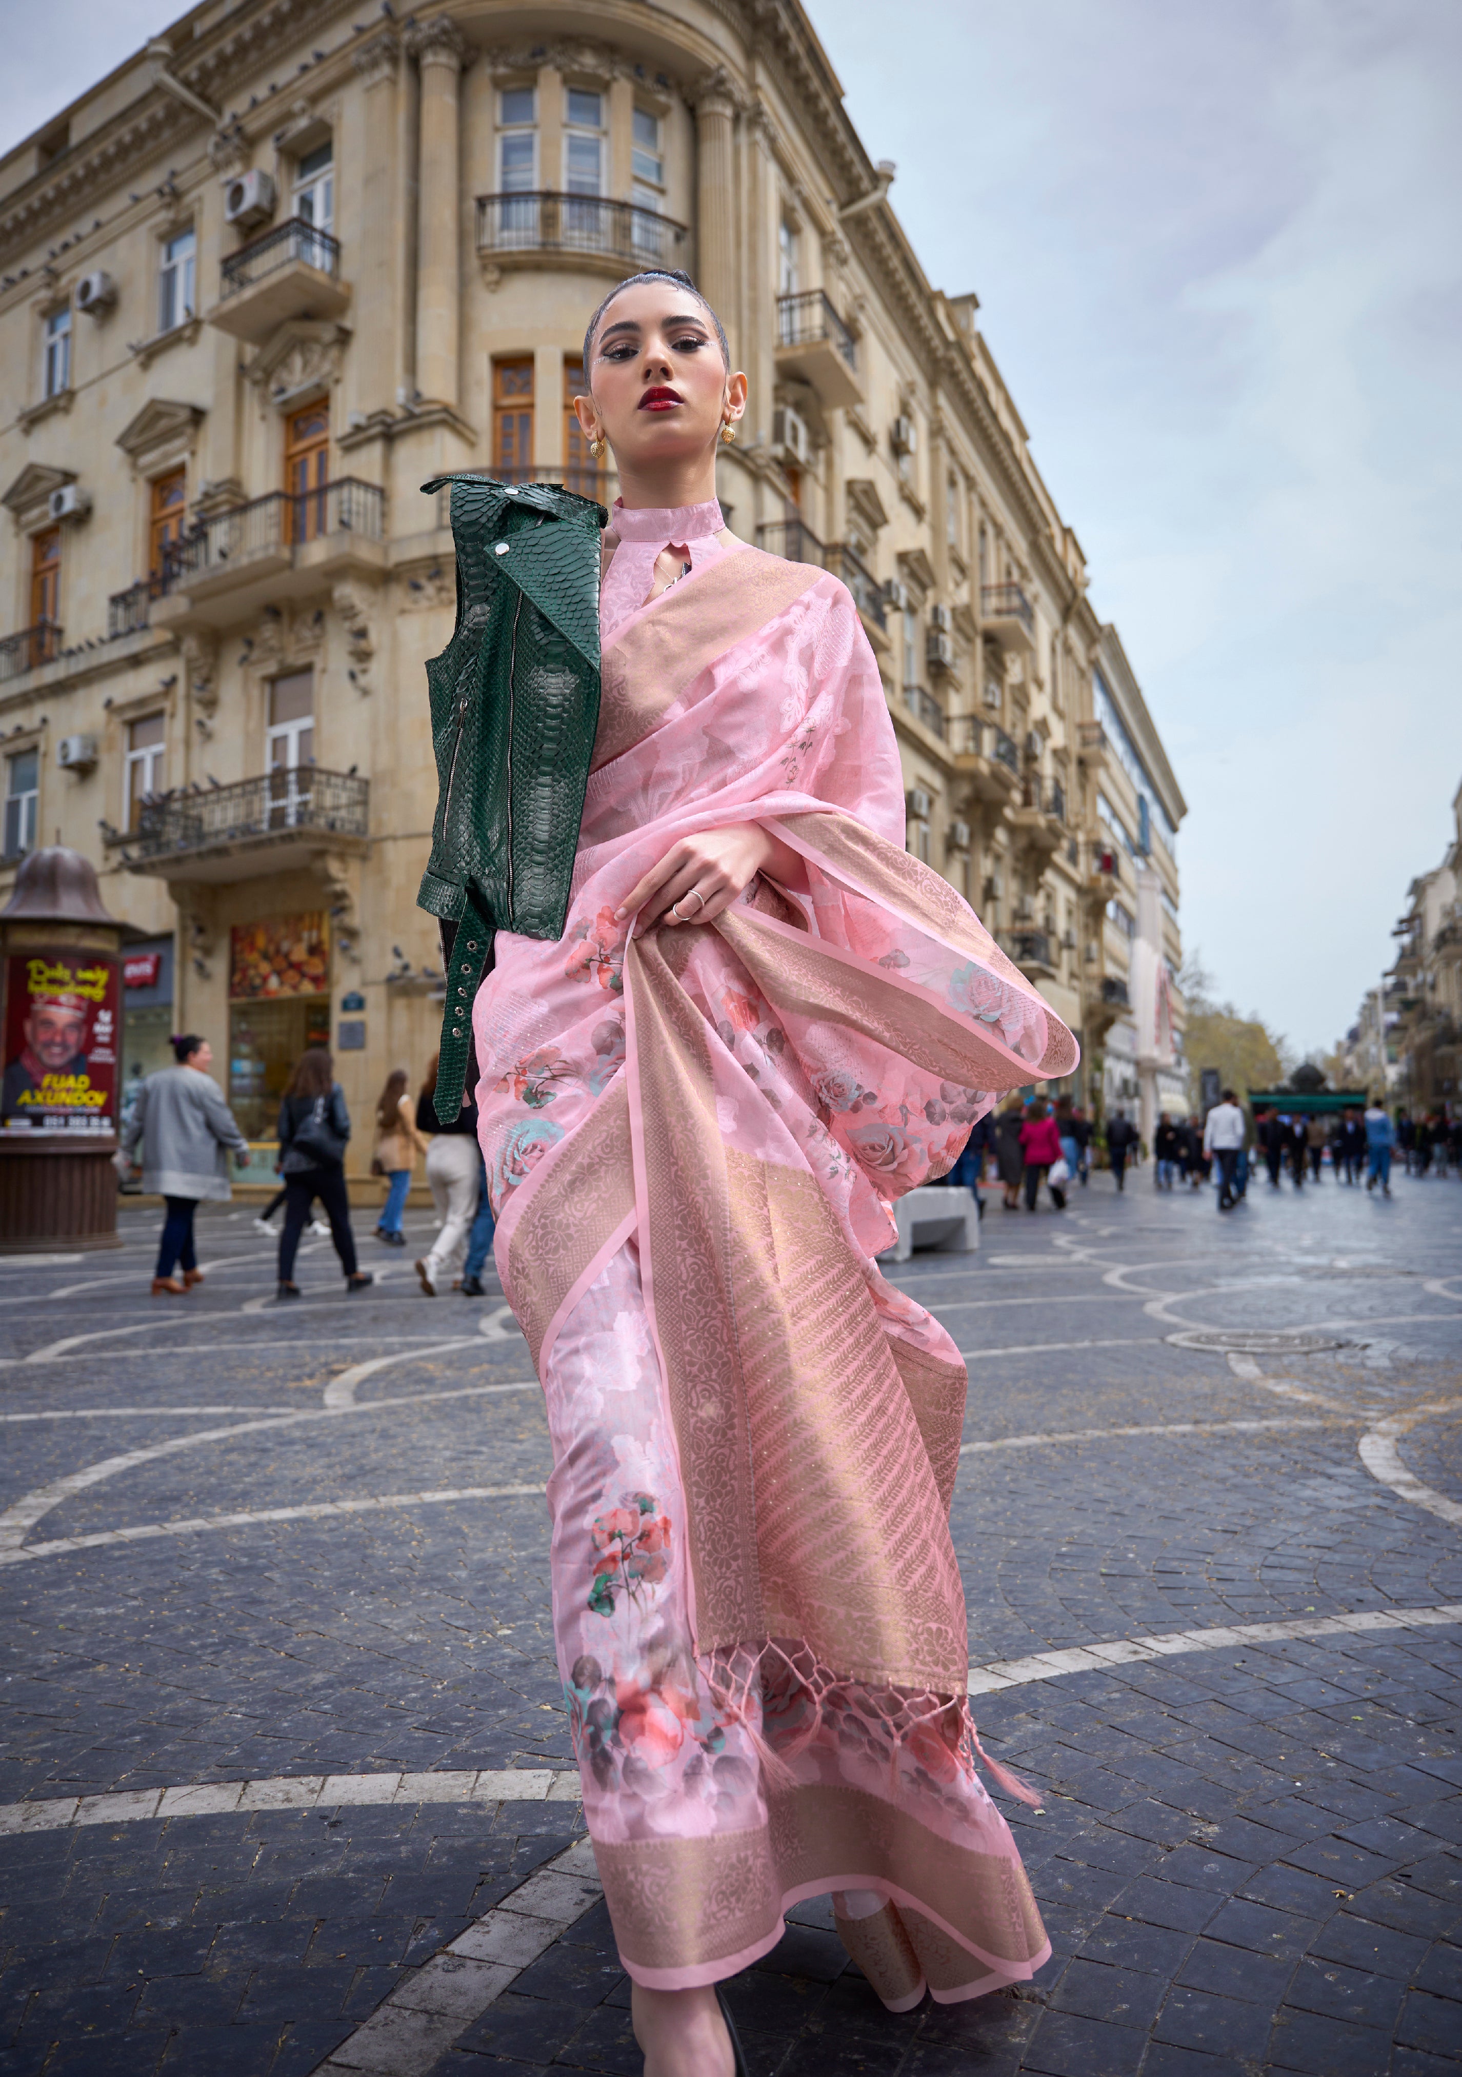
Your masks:
{"label": "nearest pale curved paving stripe crossing behind the saree's fringe", "polygon": [[[1111,1672],[1186,1651],[1229,1651],[1234,1645],[1277,1645],[1310,1637],[1373,1637],[1385,1630],[1433,1630],[1462,1622],[1462,1601],[1433,1608],[1358,1608],[1346,1616],[1300,1616],[1290,1622],[1219,1624],[1209,1630],[1163,1630],[1157,1637],[1113,1637],[1096,1645],[1032,1651],[1022,1660],[991,1660],[970,1668],[970,1693],[995,1695],[1036,1680]],[[517,1803],[579,1801],[577,1768],[484,1768],[428,1774],[276,1774],[245,1782],[185,1782],[174,1788],[120,1788],[93,1797],[37,1797],[0,1805],[0,1836],[66,1832],[93,1824],[139,1824],[152,1817],[218,1817],[231,1811],[339,1809],[351,1803]]]}

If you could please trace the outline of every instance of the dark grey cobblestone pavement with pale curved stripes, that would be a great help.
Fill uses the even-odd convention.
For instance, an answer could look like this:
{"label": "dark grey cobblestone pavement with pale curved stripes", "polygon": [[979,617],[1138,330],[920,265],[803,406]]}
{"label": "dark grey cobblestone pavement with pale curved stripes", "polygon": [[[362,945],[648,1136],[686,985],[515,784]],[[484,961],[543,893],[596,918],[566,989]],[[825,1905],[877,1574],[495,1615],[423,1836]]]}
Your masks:
{"label": "dark grey cobblestone pavement with pale curved stripes", "polygon": [[[804,1907],[731,1986],[756,2077],[1456,2077],[1462,1184],[1393,1188],[1094,1178],[897,1271],[970,1358],[972,1693],[1055,1959],[895,2019]],[[280,1311],[220,1209],[152,1300],[156,1223],[0,1263],[0,2071],[638,2077],[500,1298],[409,1246],[347,1300],[309,1242]]]}

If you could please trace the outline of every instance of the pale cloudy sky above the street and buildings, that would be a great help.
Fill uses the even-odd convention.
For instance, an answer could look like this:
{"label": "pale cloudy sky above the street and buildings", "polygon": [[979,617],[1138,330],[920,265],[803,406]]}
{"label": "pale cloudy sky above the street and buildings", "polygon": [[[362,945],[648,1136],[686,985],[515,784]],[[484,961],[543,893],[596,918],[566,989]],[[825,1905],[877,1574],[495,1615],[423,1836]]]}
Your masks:
{"label": "pale cloudy sky above the street and buildings", "polygon": [[[170,12],[0,0],[0,150]],[[1186,941],[1327,1047],[1462,781],[1462,4],[810,12],[1163,731]]]}

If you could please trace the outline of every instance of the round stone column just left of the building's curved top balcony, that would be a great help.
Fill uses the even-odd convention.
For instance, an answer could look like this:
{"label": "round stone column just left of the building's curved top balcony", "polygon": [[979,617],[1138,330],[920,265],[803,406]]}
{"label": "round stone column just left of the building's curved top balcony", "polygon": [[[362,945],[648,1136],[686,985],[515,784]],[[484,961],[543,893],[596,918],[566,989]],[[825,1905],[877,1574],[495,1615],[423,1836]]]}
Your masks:
{"label": "round stone column just left of the building's curved top balcony", "polygon": [[455,407],[461,326],[457,81],[469,48],[444,15],[411,29],[407,44],[422,69],[415,386],[424,403]]}

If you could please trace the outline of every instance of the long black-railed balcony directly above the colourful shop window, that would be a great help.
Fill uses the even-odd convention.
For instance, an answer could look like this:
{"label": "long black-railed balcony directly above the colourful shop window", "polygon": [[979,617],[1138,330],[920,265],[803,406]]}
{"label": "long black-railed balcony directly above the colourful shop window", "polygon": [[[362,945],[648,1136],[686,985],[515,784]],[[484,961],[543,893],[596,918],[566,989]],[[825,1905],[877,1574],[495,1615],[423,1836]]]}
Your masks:
{"label": "long black-railed balcony directly above the colourful shop window", "polygon": [[291,872],[322,852],[363,852],[370,779],[316,764],[141,804],[123,862],[172,883]]}

